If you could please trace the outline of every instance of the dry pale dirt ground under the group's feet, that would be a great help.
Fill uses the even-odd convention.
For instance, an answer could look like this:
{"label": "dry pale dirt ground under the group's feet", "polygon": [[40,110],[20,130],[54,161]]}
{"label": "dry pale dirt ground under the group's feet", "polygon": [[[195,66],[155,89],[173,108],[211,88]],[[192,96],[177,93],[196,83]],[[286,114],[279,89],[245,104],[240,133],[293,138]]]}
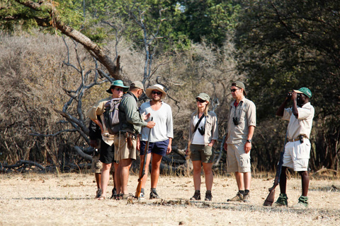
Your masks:
{"label": "dry pale dirt ground under the group's feet", "polygon": [[[271,177],[257,176],[250,203],[226,203],[237,193],[235,179],[216,176],[212,202],[191,203],[191,177],[162,176],[157,191],[163,201],[147,197],[128,203],[96,200],[93,174],[0,174],[0,225],[340,225],[339,178],[312,177],[305,210],[263,207],[272,183]],[[131,175],[131,193],[136,186],[137,176]],[[205,184],[201,187],[204,198]],[[300,189],[298,177],[288,179],[289,206],[297,203]]]}

